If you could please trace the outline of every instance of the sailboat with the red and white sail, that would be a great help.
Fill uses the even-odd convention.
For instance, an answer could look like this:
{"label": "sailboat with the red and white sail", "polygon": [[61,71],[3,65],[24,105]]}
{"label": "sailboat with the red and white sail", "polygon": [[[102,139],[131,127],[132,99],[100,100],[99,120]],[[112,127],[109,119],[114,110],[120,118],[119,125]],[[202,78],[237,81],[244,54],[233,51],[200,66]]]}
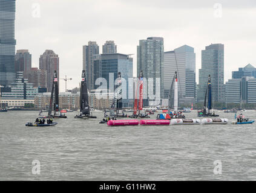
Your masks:
{"label": "sailboat with the red and white sail", "polygon": [[[138,108],[138,88],[139,88],[139,108]],[[130,118],[150,118],[146,113],[143,113],[143,72],[140,71],[139,81],[137,82],[136,91],[135,91],[133,115],[129,116]],[[139,112],[138,112],[139,110]],[[137,114],[138,113],[138,114]]]}

